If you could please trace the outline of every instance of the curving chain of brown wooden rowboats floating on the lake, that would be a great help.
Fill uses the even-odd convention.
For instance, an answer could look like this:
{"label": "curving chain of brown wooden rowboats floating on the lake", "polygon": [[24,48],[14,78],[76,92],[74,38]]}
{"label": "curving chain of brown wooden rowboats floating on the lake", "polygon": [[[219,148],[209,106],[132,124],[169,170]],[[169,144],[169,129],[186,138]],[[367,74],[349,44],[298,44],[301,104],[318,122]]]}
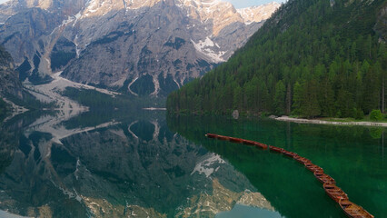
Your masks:
{"label": "curving chain of brown wooden rowboats floating on the lake", "polygon": [[336,182],[334,179],[325,174],[323,172],[323,168],[320,166],[313,164],[310,160],[295,154],[293,152],[289,152],[284,150],[283,148],[275,147],[272,145],[267,145],[267,144],[261,144],[258,142],[254,142],[251,140],[245,140],[245,139],[240,139],[240,138],[233,138],[229,136],[223,136],[219,134],[205,134],[208,138],[213,138],[213,139],[219,139],[223,141],[230,141],[232,143],[237,143],[237,144],[247,144],[247,145],[252,145],[255,147],[259,147],[262,149],[268,149],[271,152],[278,153],[278,154],[284,154],[288,157],[293,158],[296,160],[298,163],[302,163],[306,169],[310,170],[313,172],[314,176],[323,183],[323,189],[325,190],[325,193],[327,193],[333,201],[336,203],[339,203],[340,207],[342,208],[342,211],[347,214],[348,217],[352,218],[373,218],[373,215],[371,213],[368,213],[366,210],[364,210],[361,206],[352,203],[348,199],[348,195],[342,191],[341,188],[336,186]]}

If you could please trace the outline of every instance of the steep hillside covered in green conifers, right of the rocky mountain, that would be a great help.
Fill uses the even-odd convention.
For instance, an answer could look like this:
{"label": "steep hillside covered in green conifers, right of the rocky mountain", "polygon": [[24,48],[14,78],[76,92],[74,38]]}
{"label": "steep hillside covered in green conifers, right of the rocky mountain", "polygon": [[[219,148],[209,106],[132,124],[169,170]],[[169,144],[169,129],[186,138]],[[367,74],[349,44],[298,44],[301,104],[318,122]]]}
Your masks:
{"label": "steep hillside covered in green conifers, right of the rocky mountain", "polygon": [[359,117],[385,108],[385,0],[290,0],[169,111]]}

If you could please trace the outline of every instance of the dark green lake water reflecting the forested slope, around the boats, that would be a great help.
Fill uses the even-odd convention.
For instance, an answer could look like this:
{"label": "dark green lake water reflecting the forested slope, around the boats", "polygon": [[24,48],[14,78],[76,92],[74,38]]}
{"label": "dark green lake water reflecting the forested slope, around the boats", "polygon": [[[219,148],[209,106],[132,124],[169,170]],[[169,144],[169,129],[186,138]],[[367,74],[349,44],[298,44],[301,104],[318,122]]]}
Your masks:
{"label": "dark green lake water reflecting the forested slope, around the boats", "polygon": [[387,215],[387,143],[382,128],[198,116],[171,117],[168,124],[232,163],[285,217],[345,216],[302,164],[281,154],[207,139],[204,134],[250,139],[300,154],[323,167],[353,203],[375,217]]}

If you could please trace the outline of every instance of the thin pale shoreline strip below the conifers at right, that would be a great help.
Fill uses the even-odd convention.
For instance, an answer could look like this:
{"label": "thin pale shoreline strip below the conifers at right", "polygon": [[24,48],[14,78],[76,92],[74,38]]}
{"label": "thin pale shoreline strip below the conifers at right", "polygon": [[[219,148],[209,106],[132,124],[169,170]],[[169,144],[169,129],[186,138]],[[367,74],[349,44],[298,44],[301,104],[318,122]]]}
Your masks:
{"label": "thin pale shoreline strip below the conifers at right", "polygon": [[362,126],[377,126],[387,127],[387,123],[374,123],[374,122],[337,122],[337,121],[323,121],[323,120],[309,120],[302,118],[292,118],[289,116],[281,116],[273,118],[277,121],[293,122],[297,124],[334,124],[334,125],[362,125]]}

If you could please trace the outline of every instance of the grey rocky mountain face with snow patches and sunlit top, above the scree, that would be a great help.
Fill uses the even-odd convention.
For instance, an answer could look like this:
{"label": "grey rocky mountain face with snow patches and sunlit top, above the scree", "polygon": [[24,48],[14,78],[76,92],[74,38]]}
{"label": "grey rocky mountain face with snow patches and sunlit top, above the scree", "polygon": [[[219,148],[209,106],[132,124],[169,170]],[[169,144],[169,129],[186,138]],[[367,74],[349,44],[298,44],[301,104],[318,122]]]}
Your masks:
{"label": "grey rocky mountain face with snow patches and sunlit top, above the scree", "polygon": [[74,82],[164,95],[227,60],[279,4],[219,0],[11,0],[0,42],[22,80],[63,71]]}

